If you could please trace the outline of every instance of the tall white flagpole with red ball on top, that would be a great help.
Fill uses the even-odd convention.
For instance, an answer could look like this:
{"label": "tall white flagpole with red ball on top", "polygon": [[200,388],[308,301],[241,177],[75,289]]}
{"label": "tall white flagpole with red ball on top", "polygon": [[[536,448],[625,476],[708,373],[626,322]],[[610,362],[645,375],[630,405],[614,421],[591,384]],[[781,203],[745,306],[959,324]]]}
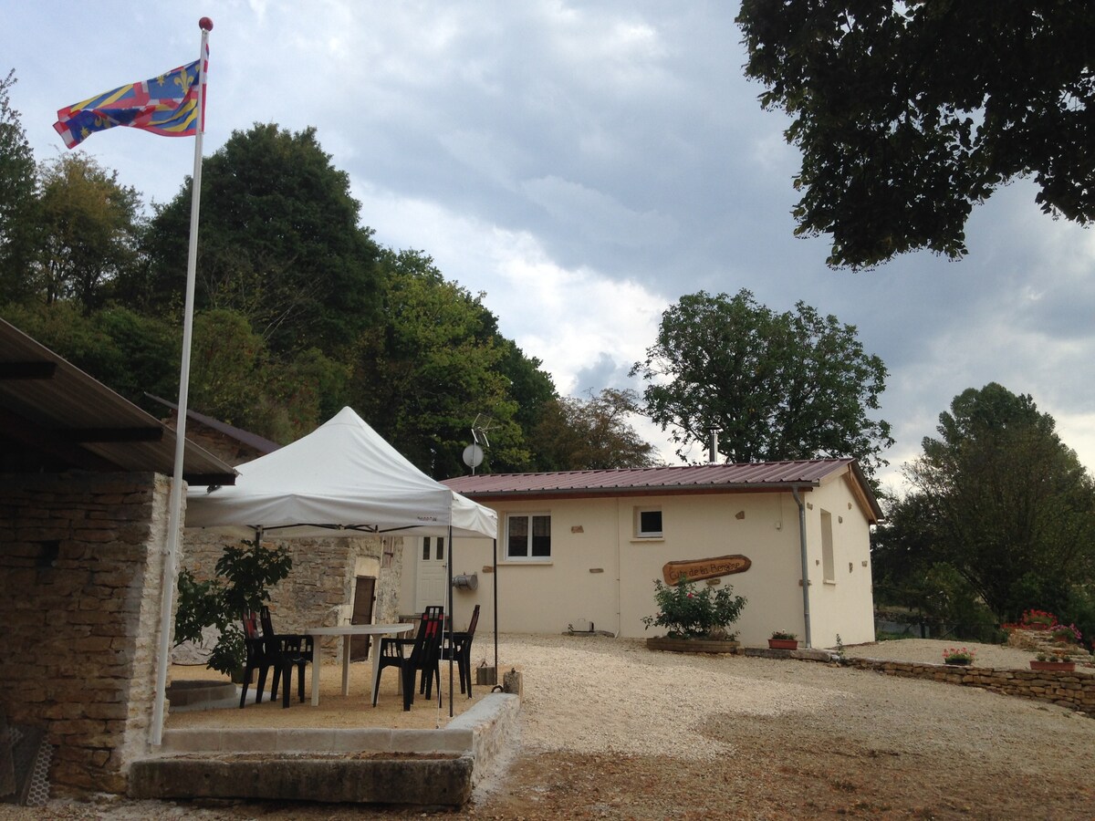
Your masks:
{"label": "tall white flagpole with red ball on top", "polygon": [[178,409],[175,421],[175,473],[171,479],[168,513],[168,547],[163,557],[163,594],[160,599],[160,657],[155,671],[155,705],[152,709],[153,747],[163,740],[163,708],[168,693],[168,666],[171,656],[171,616],[175,600],[175,566],[178,556],[178,531],[183,507],[183,458],[186,451],[186,402],[191,382],[191,340],[194,335],[194,281],[197,279],[198,206],[201,194],[201,135],[205,131],[206,49],[212,21],[201,18],[201,53],[198,55],[198,126],[194,138],[194,178],[191,192],[191,242],[186,255],[186,303],[183,311],[183,359],[178,370]]}

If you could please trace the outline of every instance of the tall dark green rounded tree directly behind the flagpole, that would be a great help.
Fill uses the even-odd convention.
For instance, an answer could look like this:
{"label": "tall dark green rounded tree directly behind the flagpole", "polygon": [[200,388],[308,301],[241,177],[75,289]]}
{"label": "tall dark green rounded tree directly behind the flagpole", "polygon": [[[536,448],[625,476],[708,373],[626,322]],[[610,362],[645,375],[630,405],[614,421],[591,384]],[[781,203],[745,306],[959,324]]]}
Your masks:
{"label": "tall dark green rounded tree directly behind the flagpole", "polygon": [[[129,303],[181,307],[192,185],[153,218]],[[348,350],[376,317],[379,251],[359,210],[314,128],[233,131],[203,166],[197,308],[246,316],[276,352]]]}

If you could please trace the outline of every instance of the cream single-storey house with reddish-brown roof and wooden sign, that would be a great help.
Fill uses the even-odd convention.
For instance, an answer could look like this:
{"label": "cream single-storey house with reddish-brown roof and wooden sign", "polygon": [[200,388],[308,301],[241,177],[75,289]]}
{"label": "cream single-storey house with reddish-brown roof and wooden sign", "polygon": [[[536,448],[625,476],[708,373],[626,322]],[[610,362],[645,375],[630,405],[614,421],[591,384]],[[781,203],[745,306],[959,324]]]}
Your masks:
{"label": "cream single-storey house with reddish-brown roof and wooden sign", "polygon": [[869,529],[881,511],[854,460],[445,484],[497,511],[497,557],[484,540],[404,539],[402,612],[443,602],[451,559],[458,628],[475,604],[480,626],[493,627],[497,592],[502,632],[660,635],[642,622],[655,614],[654,580],[683,570],[748,599],[736,625],[747,645],[763,645],[775,629],[812,647],[832,647],[838,635],[844,644],[874,640]]}

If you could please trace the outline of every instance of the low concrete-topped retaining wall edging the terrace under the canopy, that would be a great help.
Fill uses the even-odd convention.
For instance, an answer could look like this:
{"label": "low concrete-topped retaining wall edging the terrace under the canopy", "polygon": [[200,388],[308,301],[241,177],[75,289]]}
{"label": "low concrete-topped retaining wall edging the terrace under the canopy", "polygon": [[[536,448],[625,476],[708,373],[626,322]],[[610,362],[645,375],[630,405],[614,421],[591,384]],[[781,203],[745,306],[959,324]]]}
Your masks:
{"label": "low concrete-topped retaining wall edging the terrace under the canopy", "polygon": [[491,693],[445,729],[165,730],[129,795],[459,806],[502,772],[519,710]]}

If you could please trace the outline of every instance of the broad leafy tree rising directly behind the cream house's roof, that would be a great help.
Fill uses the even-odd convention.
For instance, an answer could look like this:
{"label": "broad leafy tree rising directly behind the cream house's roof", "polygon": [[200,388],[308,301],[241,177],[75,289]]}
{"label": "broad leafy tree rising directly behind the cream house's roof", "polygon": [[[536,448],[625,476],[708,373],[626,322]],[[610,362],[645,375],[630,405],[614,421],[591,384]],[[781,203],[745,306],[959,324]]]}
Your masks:
{"label": "broad leafy tree rising directly behind the cream house's roof", "polygon": [[719,432],[719,452],[751,462],[854,456],[873,476],[888,464],[889,424],[872,419],[886,367],[855,326],[798,302],[775,313],[748,290],[681,297],[661,315],[657,342],[631,373],[649,384],[645,413],[687,458]]}

